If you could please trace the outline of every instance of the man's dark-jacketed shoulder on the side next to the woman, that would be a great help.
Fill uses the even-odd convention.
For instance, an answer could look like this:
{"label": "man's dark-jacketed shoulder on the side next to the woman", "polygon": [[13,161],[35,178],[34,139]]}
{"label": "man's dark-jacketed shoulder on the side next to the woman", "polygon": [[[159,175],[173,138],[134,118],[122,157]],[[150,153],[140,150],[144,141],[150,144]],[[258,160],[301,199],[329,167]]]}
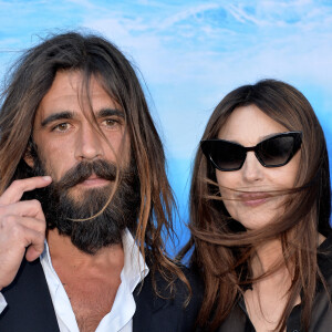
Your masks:
{"label": "man's dark-jacketed shoulder on the side next to the woman", "polygon": [[160,272],[149,273],[136,288],[134,332],[194,330],[203,299],[203,282],[195,270],[186,267],[180,267],[180,270],[190,284],[191,293],[183,280],[176,278],[170,283]]}

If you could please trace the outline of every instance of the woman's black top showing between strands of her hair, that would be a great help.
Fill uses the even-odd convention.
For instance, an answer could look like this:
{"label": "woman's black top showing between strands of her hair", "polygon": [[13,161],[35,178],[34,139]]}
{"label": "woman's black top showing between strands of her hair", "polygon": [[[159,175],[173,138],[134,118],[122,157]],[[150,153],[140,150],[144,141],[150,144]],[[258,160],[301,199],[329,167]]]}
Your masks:
{"label": "woman's black top showing between strands of her hair", "polygon": [[[319,247],[318,263],[323,273],[329,293],[326,293],[323,284],[319,282],[312,305],[312,317],[310,320],[309,332],[329,332],[332,331],[332,235]],[[301,332],[301,304],[293,308],[289,319],[287,320],[287,332]],[[243,298],[236,303],[232,312],[222,322],[218,332],[256,332],[247,309]]]}

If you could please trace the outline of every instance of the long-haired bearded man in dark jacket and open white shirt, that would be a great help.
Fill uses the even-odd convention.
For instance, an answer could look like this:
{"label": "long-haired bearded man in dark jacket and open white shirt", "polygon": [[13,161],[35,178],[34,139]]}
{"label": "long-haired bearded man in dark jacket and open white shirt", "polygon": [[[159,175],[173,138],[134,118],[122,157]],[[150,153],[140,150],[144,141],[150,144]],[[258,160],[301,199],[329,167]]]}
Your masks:
{"label": "long-haired bearded man in dark jacket and open white shirt", "polygon": [[32,48],[0,135],[0,331],[191,331],[163,146],[124,55],[74,32]]}

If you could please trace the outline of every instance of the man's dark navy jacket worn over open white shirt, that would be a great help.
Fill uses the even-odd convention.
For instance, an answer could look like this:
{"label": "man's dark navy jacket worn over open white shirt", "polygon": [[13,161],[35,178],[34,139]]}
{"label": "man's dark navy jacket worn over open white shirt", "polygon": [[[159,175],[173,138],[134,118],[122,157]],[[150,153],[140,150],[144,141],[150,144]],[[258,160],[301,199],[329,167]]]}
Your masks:
{"label": "man's dark navy jacket worn over open white shirt", "polygon": [[[149,273],[151,274],[151,273]],[[176,282],[176,293],[172,299],[167,283],[156,276],[158,290],[155,294],[151,276],[144,279],[143,287],[134,291],[136,312],[133,318],[133,332],[189,332],[194,331],[195,320],[200,307],[201,287],[193,272],[186,270],[194,297],[184,308],[186,288]],[[2,290],[8,303],[0,314],[1,332],[59,332],[58,321],[40,260],[23,260],[14,281]]]}

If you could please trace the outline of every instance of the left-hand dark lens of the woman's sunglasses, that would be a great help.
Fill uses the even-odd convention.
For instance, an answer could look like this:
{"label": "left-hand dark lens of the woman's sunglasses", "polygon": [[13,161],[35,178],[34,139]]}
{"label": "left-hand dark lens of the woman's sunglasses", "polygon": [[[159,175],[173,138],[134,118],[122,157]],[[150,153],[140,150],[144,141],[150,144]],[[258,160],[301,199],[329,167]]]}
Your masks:
{"label": "left-hand dark lens of the woman's sunglasses", "polygon": [[208,154],[220,170],[240,169],[246,158],[246,152],[241,146],[224,141],[210,142]]}

